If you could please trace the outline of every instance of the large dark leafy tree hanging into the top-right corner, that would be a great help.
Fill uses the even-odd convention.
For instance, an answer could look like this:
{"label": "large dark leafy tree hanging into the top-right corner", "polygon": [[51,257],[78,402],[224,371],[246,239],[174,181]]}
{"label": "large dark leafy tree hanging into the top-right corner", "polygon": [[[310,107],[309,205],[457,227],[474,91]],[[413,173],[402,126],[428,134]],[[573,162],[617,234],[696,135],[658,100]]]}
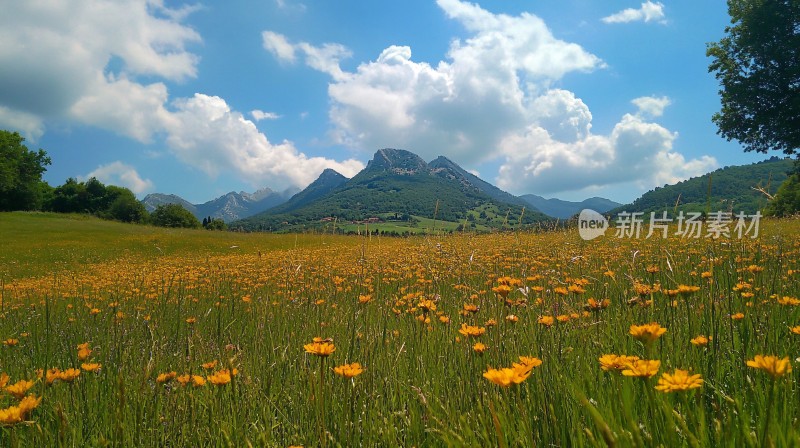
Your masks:
{"label": "large dark leafy tree hanging into the top-right corner", "polygon": [[720,81],[718,134],[745,151],[800,149],[800,1],[728,0],[731,25],[708,45]]}

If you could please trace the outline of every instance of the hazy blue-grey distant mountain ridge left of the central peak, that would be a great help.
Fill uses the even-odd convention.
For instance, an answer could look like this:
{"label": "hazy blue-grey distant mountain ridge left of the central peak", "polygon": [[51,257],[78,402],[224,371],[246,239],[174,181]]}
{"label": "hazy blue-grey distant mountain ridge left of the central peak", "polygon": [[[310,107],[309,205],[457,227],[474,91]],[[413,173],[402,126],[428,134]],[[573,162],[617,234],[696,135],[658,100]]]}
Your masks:
{"label": "hazy blue-grey distant mountain ridge left of the central peak", "polygon": [[291,193],[293,190],[276,192],[269,188],[262,188],[254,193],[232,191],[203,204],[192,204],[174,194],[152,193],[145,196],[142,203],[148,212],[153,212],[159,205],[180,204],[192,212],[197,219],[210,216],[225,222],[232,222],[282,204],[286,202]]}

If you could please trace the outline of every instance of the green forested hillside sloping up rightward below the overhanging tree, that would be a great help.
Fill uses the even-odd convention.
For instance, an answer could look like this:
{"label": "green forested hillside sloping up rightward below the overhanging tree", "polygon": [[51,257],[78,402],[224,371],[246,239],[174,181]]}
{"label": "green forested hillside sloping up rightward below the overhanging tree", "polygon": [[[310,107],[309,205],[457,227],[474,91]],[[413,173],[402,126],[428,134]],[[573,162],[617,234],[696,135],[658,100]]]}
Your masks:
{"label": "green forested hillside sloping up rightward below the overhanging tree", "polygon": [[[643,194],[632,204],[609,210],[620,212],[669,213],[677,211],[732,211],[747,214],[762,210],[767,198],[754,187],[762,187],[775,194],[792,169],[792,159],[772,157],[763,162],[720,168],[702,176],[693,177],[674,185],[657,187]],[[676,208],[677,204],[677,208]]]}

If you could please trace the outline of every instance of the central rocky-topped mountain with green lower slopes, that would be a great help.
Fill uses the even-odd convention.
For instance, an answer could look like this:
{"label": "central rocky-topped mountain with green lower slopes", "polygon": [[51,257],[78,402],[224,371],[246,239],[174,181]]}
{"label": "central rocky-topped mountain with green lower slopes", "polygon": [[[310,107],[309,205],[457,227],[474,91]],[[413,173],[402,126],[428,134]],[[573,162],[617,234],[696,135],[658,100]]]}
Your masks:
{"label": "central rocky-topped mountain with green lower slopes", "polygon": [[[318,182],[319,179],[310,187]],[[306,189],[296,196],[311,195]],[[439,158],[428,164],[409,151],[387,148],[377,151],[367,167],[352,179],[313,201],[296,201],[296,206],[287,203],[237,221],[232,228],[297,230],[318,226],[330,217],[341,222],[435,217],[439,221],[464,222],[471,227],[517,224],[521,216],[527,224],[548,219],[530,207],[523,215],[521,201],[496,199],[503,195],[510,196],[509,201],[515,199],[447,159]]]}

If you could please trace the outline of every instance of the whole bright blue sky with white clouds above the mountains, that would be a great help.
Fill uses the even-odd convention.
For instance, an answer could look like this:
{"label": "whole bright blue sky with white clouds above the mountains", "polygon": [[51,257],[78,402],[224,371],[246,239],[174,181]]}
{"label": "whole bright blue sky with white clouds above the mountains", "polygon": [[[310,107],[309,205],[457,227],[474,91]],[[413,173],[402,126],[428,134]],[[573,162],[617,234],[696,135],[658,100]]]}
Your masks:
{"label": "whole bright blue sky with white clouds above the mountains", "polygon": [[0,0],[0,129],[140,198],[444,155],[515,194],[629,202],[763,160],[718,135],[722,1]]}

